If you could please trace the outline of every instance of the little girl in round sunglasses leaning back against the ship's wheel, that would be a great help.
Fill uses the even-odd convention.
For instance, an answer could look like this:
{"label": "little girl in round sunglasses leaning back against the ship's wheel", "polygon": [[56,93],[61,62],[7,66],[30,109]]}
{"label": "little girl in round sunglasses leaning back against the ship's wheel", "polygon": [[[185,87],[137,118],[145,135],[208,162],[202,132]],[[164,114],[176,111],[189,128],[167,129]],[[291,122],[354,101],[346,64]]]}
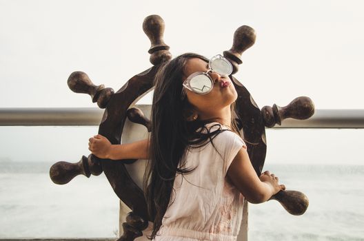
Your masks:
{"label": "little girl in round sunglasses leaning back against the ship's wheel", "polygon": [[90,138],[99,158],[149,160],[150,240],[234,241],[244,198],[265,202],[285,189],[269,171],[256,176],[234,118],[231,72],[223,56],[182,54],[156,74],[150,138],[123,145]]}

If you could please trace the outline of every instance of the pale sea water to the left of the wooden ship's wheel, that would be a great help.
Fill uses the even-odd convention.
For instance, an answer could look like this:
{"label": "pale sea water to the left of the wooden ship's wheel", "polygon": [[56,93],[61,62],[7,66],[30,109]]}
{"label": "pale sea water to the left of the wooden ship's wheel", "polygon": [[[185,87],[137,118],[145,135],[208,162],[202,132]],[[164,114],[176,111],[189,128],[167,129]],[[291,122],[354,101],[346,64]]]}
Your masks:
{"label": "pale sea water to the left of the wooden ship's wheel", "polygon": [[104,174],[50,180],[50,163],[1,163],[0,238],[117,237],[119,200]]}

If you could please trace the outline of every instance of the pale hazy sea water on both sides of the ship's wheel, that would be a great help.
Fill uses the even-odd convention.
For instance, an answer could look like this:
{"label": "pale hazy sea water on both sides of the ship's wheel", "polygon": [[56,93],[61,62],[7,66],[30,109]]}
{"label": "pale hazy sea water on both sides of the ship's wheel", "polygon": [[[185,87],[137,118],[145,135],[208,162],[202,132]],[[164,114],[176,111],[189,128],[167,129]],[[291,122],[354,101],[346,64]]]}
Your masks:
{"label": "pale hazy sea water on both sides of the ship's wheel", "polygon": [[[2,162],[0,238],[116,238],[119,200],[104,174],[55,185],[50,163]],[[364,166],[265,165],[310,200],[292,216],[275,200],[249,205],[249,240],[364,240]]]}

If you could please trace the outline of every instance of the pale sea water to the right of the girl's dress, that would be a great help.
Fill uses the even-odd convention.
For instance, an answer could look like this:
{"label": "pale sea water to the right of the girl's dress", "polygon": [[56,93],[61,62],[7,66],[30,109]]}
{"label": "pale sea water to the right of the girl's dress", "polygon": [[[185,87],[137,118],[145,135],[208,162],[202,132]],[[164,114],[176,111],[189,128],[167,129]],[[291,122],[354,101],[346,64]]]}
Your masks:
{"label": "pale sea water to the right of the girl's dress", "polygon": [[364,166],[266,165],[310,200],[292,216],[275,200],[249,205],[250,240],[364,240]]}

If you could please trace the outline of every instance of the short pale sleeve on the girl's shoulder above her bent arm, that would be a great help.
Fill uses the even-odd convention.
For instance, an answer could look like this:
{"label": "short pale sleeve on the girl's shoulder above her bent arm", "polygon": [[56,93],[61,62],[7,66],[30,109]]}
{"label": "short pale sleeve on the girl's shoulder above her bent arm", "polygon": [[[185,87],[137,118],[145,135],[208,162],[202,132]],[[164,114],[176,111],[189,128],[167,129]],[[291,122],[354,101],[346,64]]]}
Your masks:
{"label": "short pale sleeve on the girl's shoulder above her bent arm", "polygon": [[243,139],[231,131],[219,133],[212,141],[219,151],[221,158],[223,158],[223,174],[226,176],[232,160],[234,160],[241,147],[245,149],[247,147]]}

